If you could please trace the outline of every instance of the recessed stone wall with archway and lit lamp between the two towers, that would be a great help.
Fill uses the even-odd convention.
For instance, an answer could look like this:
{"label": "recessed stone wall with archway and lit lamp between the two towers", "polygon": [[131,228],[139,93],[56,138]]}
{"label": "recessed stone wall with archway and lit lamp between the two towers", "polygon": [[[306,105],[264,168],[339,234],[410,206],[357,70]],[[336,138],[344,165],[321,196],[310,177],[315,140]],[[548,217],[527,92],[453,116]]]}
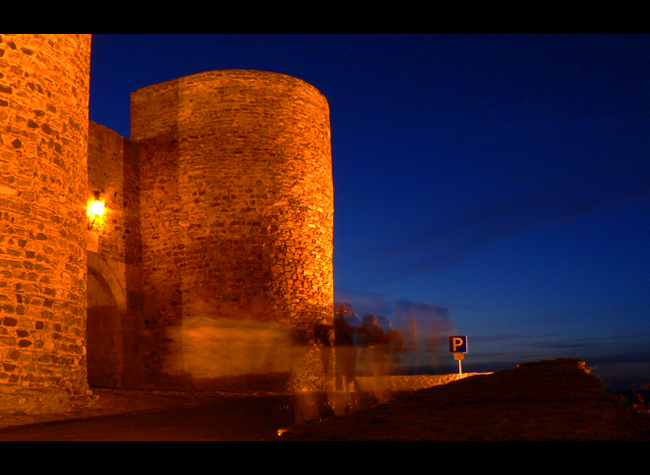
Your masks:
{"label": "recessed stone wall with archway and lit lamp between the two towers", "polygon": [[140,153],[137,144],[90,122],[88,195],[105,205],[88,234],[88,381],[135,387],[142,362]]}

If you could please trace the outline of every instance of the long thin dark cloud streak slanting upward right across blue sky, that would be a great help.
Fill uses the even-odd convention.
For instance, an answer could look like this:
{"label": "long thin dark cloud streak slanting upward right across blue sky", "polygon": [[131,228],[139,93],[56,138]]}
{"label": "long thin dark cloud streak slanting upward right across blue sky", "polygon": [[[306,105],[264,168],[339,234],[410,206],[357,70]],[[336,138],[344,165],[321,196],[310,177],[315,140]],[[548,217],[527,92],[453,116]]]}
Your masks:
{"label": "long thin dark cloud streak slanting upward right across blue sky", "polygon": [[421,232],[411,230],[398,242],[366,256],[373,285],[384,285],[462,263],[491,242],[533,226],[586,216],[601,208],[647,196],[650,180],[564,188],[533,197],[512,196],[477,207],[457,219]]}

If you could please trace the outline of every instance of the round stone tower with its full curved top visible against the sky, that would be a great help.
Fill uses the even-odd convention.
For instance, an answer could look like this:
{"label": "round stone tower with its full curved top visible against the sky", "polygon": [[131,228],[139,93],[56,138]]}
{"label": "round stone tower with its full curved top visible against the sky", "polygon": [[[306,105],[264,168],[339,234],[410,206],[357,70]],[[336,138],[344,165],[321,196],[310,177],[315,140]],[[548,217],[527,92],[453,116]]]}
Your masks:
{"label": "round stone tower with its full curved top visible against the sky", "polygon": [[152,378],[196,383],[290,366],[294,390],[326,386],[318,328],[333,315],[334,210],[325,97],[282,74],[206,72],[133,93],[131,127],[146,150]]}

